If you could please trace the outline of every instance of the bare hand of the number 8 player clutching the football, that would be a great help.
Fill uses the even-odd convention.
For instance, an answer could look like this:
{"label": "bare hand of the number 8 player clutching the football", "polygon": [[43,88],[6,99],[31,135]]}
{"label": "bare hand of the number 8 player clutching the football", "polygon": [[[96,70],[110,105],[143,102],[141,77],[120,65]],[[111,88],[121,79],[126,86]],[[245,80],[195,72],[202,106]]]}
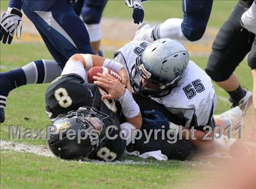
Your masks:
{"label": "bare hand of the number 8 player clutching the football", "polygon": [[125,88],[123,84],[110,74],[98,73],[97,76],[93,76],[94,84],[104,88],[108,94],[102,95],[102,100],[116,100],[124,94]]}

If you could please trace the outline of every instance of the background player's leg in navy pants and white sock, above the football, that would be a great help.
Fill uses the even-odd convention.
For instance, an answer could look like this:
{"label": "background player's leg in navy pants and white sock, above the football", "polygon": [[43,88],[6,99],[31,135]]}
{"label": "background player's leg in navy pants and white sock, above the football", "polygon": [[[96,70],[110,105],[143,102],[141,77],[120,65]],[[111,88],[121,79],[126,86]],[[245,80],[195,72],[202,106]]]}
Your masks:
{"label": "background player's leg in navy pants and white sock, above the football", "polygon": [[87,27],[91,47],[94,52],[99,51],[99,46],[101,44],[101,26],[99,22],[101,21],[102,12],[106,4],[107,0],[88,0],[84,1],[84,6],[82,8],[82,18]]}

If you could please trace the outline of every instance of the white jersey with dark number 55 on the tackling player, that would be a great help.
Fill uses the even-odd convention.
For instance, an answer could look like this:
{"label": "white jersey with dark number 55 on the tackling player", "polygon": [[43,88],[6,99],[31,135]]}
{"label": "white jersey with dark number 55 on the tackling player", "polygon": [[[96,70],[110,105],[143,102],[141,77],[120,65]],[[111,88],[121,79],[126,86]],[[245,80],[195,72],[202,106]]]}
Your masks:
{"label": "white jersey with dark number 55 on the tackling player", "polygon": [[[115,52],[114,60],[126,66],[130,77],[135,72],[132,68],[136,58],[148,44],[147,41],[131,41]],[[138,81],[139,78],[135,80]],[[193,61],[188,63],[176,88],[165,97],[152,99],[163,104],[170,114],[175,115],[176,124],[195,128],[214,125],[215,89],[211,78]]]}

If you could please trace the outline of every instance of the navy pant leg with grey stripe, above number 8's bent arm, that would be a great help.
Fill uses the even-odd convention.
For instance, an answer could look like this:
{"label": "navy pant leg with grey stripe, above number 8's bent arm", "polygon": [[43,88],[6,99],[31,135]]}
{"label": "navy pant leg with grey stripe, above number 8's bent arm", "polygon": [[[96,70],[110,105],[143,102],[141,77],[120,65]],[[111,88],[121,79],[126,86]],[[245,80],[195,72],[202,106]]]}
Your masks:
{"label": "navy pant leg with grey stripe, above number 8's bent arm", "polygon": [[66,58],[65,62],[75,53],[94,53],[87,29],[68,1],[43,1],[51,4],[48,9],[36,2],[25,0],[24,13]]}

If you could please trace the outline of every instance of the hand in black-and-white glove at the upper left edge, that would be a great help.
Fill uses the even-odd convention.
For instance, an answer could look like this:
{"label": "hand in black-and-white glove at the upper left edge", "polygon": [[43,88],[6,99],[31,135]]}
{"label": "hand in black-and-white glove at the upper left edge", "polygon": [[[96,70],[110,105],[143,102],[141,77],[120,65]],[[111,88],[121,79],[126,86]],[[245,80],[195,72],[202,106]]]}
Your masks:
{"label": "hand in black-and-white glove at the upper left edge", "polygon": [[20,40],[21,37],[21,21],[22,13],[20,10],[15,8],[8,8],[7,12],[4,12],[1,16],[1,27],[0,27],[0,41],[2,43],[11,44],[13,35],[16,30],[16,36]]}

